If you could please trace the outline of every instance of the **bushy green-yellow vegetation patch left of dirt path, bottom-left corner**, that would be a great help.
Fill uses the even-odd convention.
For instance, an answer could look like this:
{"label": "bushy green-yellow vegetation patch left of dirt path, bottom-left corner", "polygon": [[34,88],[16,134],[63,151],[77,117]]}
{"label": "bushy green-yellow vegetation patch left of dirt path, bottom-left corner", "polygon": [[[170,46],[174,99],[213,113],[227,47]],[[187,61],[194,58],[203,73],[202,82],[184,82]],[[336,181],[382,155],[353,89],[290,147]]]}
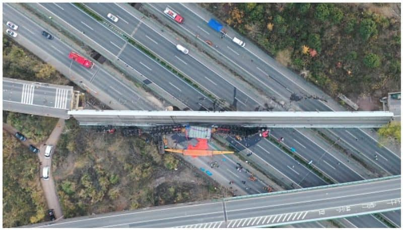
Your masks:
{"label": "bushy green-yellow vegetation patch left of dirt path, bottom-left corner", "polygon": [[37,156],[3,131],[3,227],[45,221],[46,210]]}

